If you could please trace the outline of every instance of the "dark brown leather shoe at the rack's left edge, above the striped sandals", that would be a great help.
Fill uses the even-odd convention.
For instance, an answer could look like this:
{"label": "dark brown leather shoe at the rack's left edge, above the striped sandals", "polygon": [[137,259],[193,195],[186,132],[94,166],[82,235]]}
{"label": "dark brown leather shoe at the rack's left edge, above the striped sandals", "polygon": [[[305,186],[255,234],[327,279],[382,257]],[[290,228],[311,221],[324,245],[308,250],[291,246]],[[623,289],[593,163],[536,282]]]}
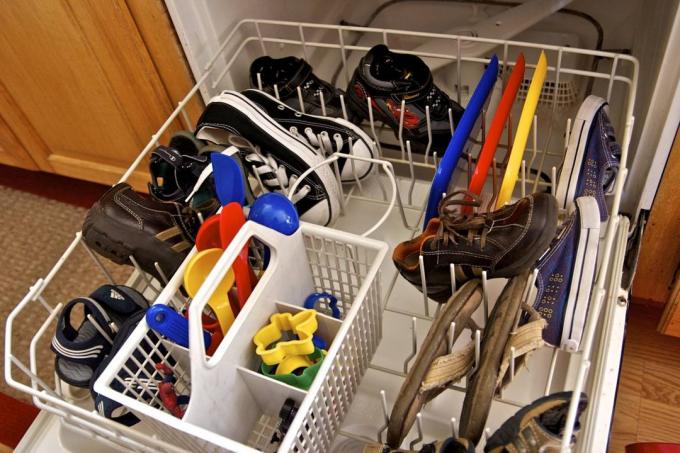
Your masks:
{"label": "dark brown leather shoe at the rack's left edge, above the striped sandals", "polygon": [[178,203],[145,198],[129,184],[110,188],[90,208],[83,239],[92,250],[118,264],[132,256],[148,274],[170,279],[191,249],[199,222],[194,211]]}

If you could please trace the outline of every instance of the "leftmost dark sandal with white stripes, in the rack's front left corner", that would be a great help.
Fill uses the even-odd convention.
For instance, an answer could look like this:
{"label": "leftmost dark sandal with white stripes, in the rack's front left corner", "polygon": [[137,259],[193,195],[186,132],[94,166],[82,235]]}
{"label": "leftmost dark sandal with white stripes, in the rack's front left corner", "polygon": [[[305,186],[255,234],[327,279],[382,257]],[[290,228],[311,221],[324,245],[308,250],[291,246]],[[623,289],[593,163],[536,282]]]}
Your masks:
{"label": "leftmost dark sandal with white stripes, in the rack's front left corner", "polygon": [[[73,309],[85,315],[80,326],[71,322]],[[62,309],[50,349],[56,354],[54,368],[61,380],[87,388],[95,368],[111,351],[124,320],[148,306],[140,293],[122,285],[104,285],[90,297],[79,297]]]}

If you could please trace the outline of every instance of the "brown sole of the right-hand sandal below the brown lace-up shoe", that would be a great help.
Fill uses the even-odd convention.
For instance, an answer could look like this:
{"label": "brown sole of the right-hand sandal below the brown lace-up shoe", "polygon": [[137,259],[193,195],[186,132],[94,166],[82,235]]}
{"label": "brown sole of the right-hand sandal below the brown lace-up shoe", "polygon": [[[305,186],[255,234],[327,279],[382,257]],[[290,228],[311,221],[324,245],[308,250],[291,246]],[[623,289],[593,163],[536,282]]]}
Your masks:
{"label": "brown sole of the right-hand sandal below the brown lace-up shoe", "polygon": [[522,306],[528,272],[509,280],[489,315],[482,336],[479,363],[468,380],[460,415],[460,437],[477,444],[486,427],[505,345]]}

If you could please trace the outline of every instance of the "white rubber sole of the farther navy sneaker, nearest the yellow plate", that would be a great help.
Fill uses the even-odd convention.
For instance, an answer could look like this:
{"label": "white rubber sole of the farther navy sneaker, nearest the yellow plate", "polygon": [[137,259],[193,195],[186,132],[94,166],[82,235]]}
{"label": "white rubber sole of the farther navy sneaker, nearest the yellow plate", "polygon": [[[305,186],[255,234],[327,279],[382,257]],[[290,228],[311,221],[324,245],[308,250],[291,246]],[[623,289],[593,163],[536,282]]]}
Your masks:
{"label": "white rubber sole of the farther navy sneaker, nearest the yellow plate", "polygon": [[578,109],[574,125],[569,136],[569,145],[564,155],[564,163],[560,170],[560,177],[557,182],[556,197],[560,209],[567,209],[574,202],[574,195],[578,187],[581,168],[583,167],[583,156],[585,155],[590,129],[595,119],[595,114],[607,101],[590,95],[583,101]]}

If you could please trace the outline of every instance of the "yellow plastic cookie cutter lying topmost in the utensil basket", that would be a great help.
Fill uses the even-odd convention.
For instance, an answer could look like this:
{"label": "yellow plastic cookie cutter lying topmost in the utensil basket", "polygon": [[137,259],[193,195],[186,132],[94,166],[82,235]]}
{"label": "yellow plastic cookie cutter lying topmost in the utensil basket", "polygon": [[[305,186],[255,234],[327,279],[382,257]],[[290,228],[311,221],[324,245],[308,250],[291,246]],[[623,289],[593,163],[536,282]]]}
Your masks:
{"label": "yellow plastic cookie cutter lying topmost in the utensil basket", "polygon": [[[295,315],[275,313],[269,321],[270,323],[253,337],[255,353],[262,358],[265,365],[279,364],[287,356],[304,356],[314,352],[312,337],[318,327],[316,310],[303,310]],[[298,339],[279,341],[273,348],[267,349],[269,345],[281,339],[284,331],[291,331]]]}

